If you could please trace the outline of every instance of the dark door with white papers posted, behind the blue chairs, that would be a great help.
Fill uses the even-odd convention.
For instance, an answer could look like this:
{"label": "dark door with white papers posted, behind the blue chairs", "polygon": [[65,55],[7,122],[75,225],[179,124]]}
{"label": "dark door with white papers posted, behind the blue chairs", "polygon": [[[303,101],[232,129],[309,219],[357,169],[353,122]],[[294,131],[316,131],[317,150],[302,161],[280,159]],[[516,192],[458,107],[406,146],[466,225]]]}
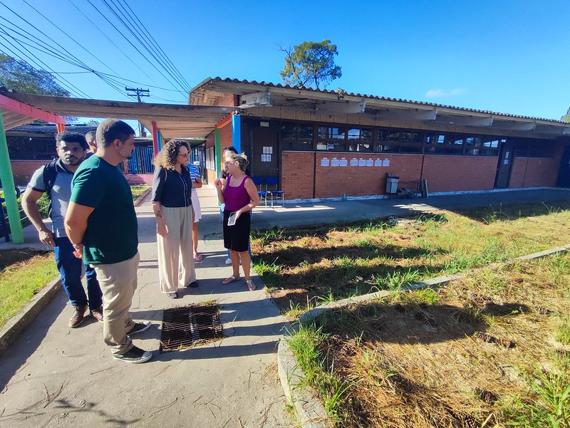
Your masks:
{"label": "dark door with white papers posted, behind the blue chairs", "polygon": [[254,177],[279,177],[276,130],[264,127],[252,129],[251,165]]}

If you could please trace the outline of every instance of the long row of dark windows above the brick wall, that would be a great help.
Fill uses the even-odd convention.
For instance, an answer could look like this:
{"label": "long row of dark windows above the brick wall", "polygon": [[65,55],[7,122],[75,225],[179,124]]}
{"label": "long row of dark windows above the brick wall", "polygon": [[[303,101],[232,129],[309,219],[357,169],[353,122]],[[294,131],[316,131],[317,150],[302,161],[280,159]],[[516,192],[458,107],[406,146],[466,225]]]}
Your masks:
{"label": "long row of dark windows above the brick wall", "polygon": [[[316,131],[315,131],[316,129]],[[279,130],[284,150],[334,152],[427,153],[498,156],[505,138],[457,132],[394,130],[369,127],[332,127],[284,123]],[[316,135],[315,135],[316,132]],[[315,138],[316,137],[316,138]],[[518,157],[551,157],[554,142],[513,138]]]}

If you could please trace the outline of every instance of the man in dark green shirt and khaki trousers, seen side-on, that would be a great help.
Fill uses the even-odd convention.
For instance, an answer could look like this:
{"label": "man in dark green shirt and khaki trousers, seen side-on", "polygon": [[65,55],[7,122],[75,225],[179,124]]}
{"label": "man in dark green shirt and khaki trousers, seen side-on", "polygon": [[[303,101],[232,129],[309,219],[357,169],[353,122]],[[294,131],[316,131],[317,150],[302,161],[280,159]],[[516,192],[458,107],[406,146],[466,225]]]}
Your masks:
{"label": "man in dark green shirt and khaki trousers, seen side-on", "polygon": [[95,268],[103,291],[103,339],[115,360],[145,362],[130,335],[150,327],[135,323],[129,309],[137,288],[138,223],[130,186],[117,165],[135,150],[135,131],[122,120],[97,127],[97,152],[73,176],[65,226],[77,256]]}

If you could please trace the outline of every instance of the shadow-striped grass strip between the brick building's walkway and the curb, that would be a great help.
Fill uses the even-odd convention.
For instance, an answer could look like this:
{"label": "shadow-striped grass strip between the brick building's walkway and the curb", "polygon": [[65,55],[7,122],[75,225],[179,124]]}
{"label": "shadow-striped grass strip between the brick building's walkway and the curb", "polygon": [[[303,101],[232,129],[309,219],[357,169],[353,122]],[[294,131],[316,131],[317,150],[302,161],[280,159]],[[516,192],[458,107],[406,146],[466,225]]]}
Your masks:
{"label": "shadow-striped grass strip between the brick building's walkway and the curb", "polygon": [[568,244],[569,208],[569,202],[525,204],[257,231],[254,266],[281,310],[298,313],[301,306],[397,290]]}

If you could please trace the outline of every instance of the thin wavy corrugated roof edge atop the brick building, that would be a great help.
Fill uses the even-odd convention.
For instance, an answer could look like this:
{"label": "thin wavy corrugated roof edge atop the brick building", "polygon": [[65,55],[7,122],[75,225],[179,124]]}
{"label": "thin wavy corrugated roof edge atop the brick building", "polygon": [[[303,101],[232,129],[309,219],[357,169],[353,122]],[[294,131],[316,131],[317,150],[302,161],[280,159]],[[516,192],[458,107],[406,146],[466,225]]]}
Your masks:
{"label": "thin wavy corrugated roof edge atop the brick building", "polygon": [[[291,86],[291,85],[281,85],[281,83],[271,83],[271,82],[258,82],[257,80],[239,80],[239,79],[231,79],[231,78],[207,78],[202,83],[199,83],[192,88],[191,92],[202,88],[203,86],[207,86],[209,83],[216,83],[216,82],[224,82],[224,83],[236,83],[236,84],[245,84],[245,85],[258,85],[263,86],[264,88],[284,88],[284,89],[291,89],[291,90],[304,90],[307,92],[313,93],[325,93],[337,96],[338,93],[335,90],[325,90],[325,89],[314,89],[314,88],[306,88],[305,86]],[[443,104],[435,104],[435,103],[426,103],[425,101],[414,101],[414,100],[404,100],[402,98],[388,98],[388,97],[380,97],[378,95],[366,95],[361,93],[351,93],[351,92],[344,92],[343,95],[351,96],[356,98],[363,98],[363,99],[371,99],[371,100],[381,100],[381,101],[390,101],[395,103],[405,103],[410,105],[423,105],[427,107],[435,107],[435,108],[447,108],[450,110],[457,110],[458,112],[465,112],[465,113],[483,113],[487,115],[497,115],[502,116],[504,118],[514,118],[514,119],[529,119],[529,120],[544,120],[546,122],[554,122],[554,123],[566,123],[561,122],[561,120],[556,119],[546,119],[546,118],[536,118],[533,116],[521,116],[521,115],[511,115],[509,113],[498,113],[491,110],[477,110],[474,108],[462,108],[462,107],[455,107],[453,105],[443,105]]]}

